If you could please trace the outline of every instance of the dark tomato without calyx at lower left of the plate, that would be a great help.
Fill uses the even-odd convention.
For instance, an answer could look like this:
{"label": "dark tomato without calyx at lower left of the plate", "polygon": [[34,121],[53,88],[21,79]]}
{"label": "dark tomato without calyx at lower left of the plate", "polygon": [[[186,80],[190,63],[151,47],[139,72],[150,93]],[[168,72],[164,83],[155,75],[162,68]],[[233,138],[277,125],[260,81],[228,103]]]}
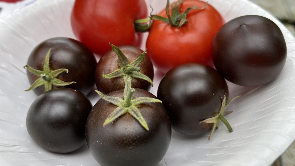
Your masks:
{"label": "dark tomato without calyx at lower left of the plate", "polygon": [[38,96],[28,111],[28,133],[48,151],[74,151],[86,143],[85,124],[91,109],[90,100],[78,90],[49,90]]}

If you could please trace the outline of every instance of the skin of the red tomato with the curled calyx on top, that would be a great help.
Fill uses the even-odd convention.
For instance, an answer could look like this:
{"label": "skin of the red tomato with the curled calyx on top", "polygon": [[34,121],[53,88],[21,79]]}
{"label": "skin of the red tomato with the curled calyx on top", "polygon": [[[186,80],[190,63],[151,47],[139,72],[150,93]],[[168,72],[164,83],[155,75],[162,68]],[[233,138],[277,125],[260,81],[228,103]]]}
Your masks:
{"label": "skin of the red tomato with the curled calyx on top", "polygon": [[[191,6],[202,8],[204,5],[203,1],[186,0],[180,8],[185,11]],[[158,15],[167,18],[165,10]],[[162,73],[189,62],[213,66],[211,43],[224,19],[210,4],[203,10],[190,11],[186,18],[189,22],[180,28],[162,21],[154,21],[151,26],[146,48],[154,66]]]}

